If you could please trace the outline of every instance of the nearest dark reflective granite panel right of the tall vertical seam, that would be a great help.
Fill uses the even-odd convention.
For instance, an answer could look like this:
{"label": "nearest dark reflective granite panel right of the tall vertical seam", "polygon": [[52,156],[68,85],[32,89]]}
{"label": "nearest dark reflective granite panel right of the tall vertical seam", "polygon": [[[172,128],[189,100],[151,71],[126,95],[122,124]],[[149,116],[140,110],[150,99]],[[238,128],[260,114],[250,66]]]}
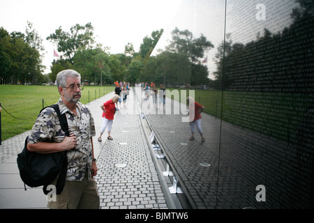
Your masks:
{"label": "nearest dark reflective granite panel right of the tall vertical seam", "polygon": [[[314,20],[309,2],[227,1],[223,119],[247,132],[221,125],[221,141],[238,141],[221,144],[221,159],[253,185],[265,186],[267,202],[261,203],[269,208],[308,208],[313,201],[313,114],[308,109],[314,102]],[[248,13],[255,6],[256,13]]]}

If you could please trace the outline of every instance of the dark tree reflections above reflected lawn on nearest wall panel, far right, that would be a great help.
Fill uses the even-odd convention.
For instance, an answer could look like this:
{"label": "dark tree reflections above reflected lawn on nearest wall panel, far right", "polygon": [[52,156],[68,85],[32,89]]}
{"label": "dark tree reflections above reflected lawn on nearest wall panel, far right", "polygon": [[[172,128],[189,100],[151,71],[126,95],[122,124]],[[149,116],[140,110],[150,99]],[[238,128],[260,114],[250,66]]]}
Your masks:
{"label": "dark tree reflections above reflected lawn on nearest wall panel, far right", "polygon": [[297,2],[293,23],[282,33],[264,29],[264,36],[246,45],[232,44],[226,36],[216,56],[216,82],[222,82],[224,90],[313,91],[313,1]]}

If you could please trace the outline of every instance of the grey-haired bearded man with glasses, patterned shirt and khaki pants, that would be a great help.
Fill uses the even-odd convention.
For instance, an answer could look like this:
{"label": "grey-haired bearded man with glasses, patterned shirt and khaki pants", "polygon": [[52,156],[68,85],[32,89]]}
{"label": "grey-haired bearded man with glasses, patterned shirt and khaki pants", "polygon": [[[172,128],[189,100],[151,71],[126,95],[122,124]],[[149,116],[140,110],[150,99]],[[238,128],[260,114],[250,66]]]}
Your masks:
{"label": "grey-haired bearded man with glasses, patterned shirt and khaki pants", "polygon": [[[49,208],[99,208],[100,199],[94,176],[97,174],[92,137],[95,136],[94,118],[80,101],[81,76],[75,70],[63,70],[57,75],[61,98],[60,113],[66,113],[70,136],[61,130],[57,112],[43,109],[31,129],[27,149],[37,153],[68,151],[66,184]],[[52,185],[57,183],[57,178]]]}

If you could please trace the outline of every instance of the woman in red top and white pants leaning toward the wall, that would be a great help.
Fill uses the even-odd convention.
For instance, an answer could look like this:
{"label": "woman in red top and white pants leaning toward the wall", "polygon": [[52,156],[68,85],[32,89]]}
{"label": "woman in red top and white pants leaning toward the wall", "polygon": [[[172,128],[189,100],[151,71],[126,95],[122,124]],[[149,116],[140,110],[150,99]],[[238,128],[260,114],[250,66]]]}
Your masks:
{"label": "woman in red top and white pants leaning toward the wall", "polygon": [[105,129],[107,127],[108,127],[107,139],[112,140],[112,137],[110,136],[110,132],[112,129],[114,113],[116,112],[115,103],[118,102],[119,98],[120,98],[119,95],[114,95],[112,99],[107,100],[107,102],[103,103],[103,105],[100,105],[100,108],[103,110],[103,125],[100,128],[100,136],[98,137],[98,141],[102,141],[101,136],[103,135],[103,132],[105,132]]}

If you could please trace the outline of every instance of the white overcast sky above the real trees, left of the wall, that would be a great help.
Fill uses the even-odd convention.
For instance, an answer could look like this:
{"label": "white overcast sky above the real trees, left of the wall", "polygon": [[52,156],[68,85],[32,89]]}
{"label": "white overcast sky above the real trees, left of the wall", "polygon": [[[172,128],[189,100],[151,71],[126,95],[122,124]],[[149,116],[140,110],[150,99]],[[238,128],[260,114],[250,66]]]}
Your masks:
{"label": "white overcast sky above the real trees, left of the wall", "polygon": [[27,21],[33,23],[45,45],[47,73],[57,46],[46,38],[59,26],[70,31],[75,24],[91,22],[96,43],[110,47],[112,54],[123,53],[128,43],[138,51],[145,36],[165,29],[180,4],[181,0],[0,0],[0,26],[9,33],[25,33]]}

